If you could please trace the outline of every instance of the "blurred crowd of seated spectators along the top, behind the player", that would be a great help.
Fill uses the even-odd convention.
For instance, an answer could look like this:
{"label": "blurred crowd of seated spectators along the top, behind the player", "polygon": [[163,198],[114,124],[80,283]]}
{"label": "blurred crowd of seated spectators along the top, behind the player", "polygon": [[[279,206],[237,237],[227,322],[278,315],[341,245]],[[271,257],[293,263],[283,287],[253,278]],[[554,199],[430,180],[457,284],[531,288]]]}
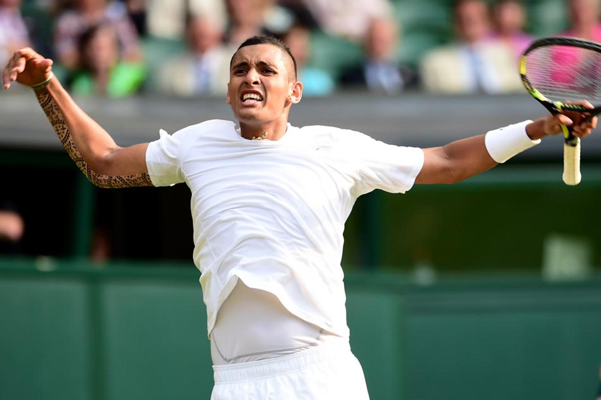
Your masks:
{"label": "blurred crowd of seated spectators along the top, behind the player", "polygon": [[[403,0],[0,0],[0,63],[22,46],[56,62],[76,95],[153,92],[182,97],[226,91],[229,62],[248,37],[282,38],[299,65],[305,95],[356,88],[397,94],[522,90],[519,55],[531,43],[519,0],[458,0],[454,34],[399,62]],[[570,26],[557,34],[601,40],[598,0],[566,0]],[[332,71],[314,62],[316,34],[361,49]],[[336,40],[340,40],[337,42]],[[332,57],[335,57],[332,53]]]}

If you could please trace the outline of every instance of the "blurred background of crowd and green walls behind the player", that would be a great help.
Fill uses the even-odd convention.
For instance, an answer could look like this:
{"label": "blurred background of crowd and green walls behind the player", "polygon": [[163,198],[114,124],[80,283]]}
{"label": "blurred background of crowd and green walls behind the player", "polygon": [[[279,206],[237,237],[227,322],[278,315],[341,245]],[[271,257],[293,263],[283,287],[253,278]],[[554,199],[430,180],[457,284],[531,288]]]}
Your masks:
{"label": "blurred background of crowd and green walls behind the player", "polygon": [[[121,146],[231,120],[228,64],[282,38],[295,126],[432,147],[546,114],[517,59],[545,35],[601,41],[597,0],[0,0],[0,64],[55,60]],[[373,399],[596,399],[601,136],[582,183],[561,138],[453,186],[362,196],[345,231],[353,351]],[[0,93],[0,399],[208,399],[187,187],[103,190],[28,88]],[[569,207],[569,208],[568,208]]]}

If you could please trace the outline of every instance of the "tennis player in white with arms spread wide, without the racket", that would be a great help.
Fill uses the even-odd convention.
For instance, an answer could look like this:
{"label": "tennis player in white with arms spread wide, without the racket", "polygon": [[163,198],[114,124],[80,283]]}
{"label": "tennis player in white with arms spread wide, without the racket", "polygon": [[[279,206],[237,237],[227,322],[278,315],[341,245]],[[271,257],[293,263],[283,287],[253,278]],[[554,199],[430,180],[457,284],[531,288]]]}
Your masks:
{"label": "tennis player in white with arms spread wide, without the racket", "polygon": [[[239,126],[205,121],[121,148],[51,69],[50,59],[20,49],[2,79],[5,88],[16,80],[35,90],[94,184],[185,182],[192,191],[213,400],[368,399],[349,348],[340,267],[344,222],[356,198],[463,180],[560,132],[560,123],[572,124],[557,115],[424,150],[334,127],[293,127],[288,112],[302,97],[294,58],[281,41],[252,37],[231,61],[227,102]],[[575,124],[576,135],[589,135],[596,123]]]}

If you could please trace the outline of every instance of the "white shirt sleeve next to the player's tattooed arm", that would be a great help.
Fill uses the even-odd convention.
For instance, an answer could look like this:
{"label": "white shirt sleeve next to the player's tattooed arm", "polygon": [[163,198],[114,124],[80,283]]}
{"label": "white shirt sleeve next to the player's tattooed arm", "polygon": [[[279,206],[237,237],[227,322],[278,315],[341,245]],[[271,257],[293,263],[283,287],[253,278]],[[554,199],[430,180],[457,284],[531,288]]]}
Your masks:
{"label": "white shirt sleeve next to the player's tattooed arm", "polygon": [[181,168],[183,138],[181,131],[169,135],[161,129],[159,140],[148,144],[146,166],[154,186],[172,186],[185,181]]}

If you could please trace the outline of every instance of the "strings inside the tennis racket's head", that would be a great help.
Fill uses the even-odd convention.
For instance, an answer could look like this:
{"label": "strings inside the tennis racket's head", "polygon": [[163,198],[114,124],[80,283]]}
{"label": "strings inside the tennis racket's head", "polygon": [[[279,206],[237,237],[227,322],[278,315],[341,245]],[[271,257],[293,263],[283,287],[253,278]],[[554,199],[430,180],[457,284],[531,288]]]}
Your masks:
{"label": "strings inside the tennis racket's head", "polygon": [[601,102],[601,53],[573,46],[544,46],[526,55],[526,77],[552,101]]}

